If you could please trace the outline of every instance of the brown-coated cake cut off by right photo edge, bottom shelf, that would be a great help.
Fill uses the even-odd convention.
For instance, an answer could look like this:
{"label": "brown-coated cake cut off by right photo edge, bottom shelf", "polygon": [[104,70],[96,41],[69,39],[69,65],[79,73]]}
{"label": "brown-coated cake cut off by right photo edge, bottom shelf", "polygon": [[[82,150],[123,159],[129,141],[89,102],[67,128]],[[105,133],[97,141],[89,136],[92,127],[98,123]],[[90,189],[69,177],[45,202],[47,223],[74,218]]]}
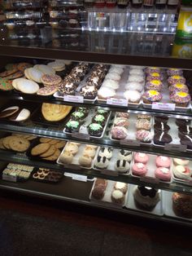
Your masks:
{"label": "brown-coated cake cut off by right photo edge, bottom shelf", "polygon": [[192,196],[172,193],[172,210],[177,216],[192,218]]}

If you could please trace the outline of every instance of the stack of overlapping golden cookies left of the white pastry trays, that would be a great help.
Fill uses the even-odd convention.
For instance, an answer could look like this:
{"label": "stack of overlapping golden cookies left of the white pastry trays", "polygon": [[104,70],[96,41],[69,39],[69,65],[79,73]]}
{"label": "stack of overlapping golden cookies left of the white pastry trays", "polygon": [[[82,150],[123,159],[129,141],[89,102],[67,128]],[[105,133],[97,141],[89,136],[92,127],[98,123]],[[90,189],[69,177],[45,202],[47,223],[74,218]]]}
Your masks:
{"label": "stack of overlapping golden cookies left of the white pastry trays", "polygon": [[65,143],[59,139],[41,138],[40,143],[31,149],[31,155],[46,161],[56,161],[61,153],[59,148],[63,148]]}

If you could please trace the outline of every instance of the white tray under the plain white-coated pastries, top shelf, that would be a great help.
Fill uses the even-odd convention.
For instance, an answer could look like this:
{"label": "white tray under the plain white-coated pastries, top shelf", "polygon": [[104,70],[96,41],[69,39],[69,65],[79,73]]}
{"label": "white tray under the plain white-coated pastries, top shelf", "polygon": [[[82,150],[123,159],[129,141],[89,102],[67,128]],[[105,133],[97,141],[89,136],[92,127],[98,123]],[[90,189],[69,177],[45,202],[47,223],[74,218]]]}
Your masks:
{"label": "white tray under the plain white-coated pastries, top shelf", "polygon": [[[125,89],[125,84],[128,81],[128,77],[129,77],[129,68],[124,68],[124,73],[122,73],[121,79],[120,79],[120,82],[119,82],[120,87],[116,90],[116,96],[113,97],[113,98],[115,98],[115,99],[125,99],[124,98],[124,91],[127,90],[127,89]],[[138,108],[142,104],[142,93],[143,92],[141,92],[141,99],[140,99],[138,104],[128,102],[128,106],[132,107],[132,108]],[[107,104],[107,100],[98,98],[98,103]]]}

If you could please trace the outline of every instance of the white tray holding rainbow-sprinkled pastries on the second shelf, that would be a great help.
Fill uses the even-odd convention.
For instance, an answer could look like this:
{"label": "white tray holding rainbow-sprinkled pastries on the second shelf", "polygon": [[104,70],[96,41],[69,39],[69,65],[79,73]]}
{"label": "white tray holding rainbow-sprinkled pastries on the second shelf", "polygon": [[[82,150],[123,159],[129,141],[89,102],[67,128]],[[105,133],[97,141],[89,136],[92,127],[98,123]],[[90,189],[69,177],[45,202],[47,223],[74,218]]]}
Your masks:
{"label": "white tray holding rainbow-sprinkled pastries on the second shelf", "polygon": [[[116,116],[114,117],[114,121],[116,119]],[[137,121],[137,114],[132,114],[132,113],[129,113],[129,127],[128,127],[128,135],[125,139],[112,139],[112,135],[111,135],[111,131],[110,131],[110,139],[112,141],[119,141],[120,143],[129,143],[129,140],[131,140],[130,143],[133,144],[133,141],[135,141],[135,143],[137,143],[138,145],[139,144],[143,144],[143,145],[148,145],[150,146],[151,143],[152,143],[152,139],[151,139],[151,143],[145,143],[145,142],[140,142],[139,140],[136,139],[136,132],[137,132],[137,129],[136,129],[136,121]],[[111,126],[111,130],[112,128],[114,127],[114,124]],[[151,134],[152,134],[152,138],[154,136],[154,130],[153,130],[153,117],[151,116]],[[126,140],[128,140],[126,142]]]}

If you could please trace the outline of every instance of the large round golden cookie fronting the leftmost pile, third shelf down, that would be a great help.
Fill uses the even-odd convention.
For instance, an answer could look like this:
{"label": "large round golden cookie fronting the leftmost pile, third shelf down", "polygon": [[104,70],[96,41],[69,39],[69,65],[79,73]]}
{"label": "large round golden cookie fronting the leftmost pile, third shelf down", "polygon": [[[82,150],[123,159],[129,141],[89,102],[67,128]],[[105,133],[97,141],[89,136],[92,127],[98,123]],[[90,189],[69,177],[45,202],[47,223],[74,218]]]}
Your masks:
{"label": "large round golden cookie fronting the leftmost pile, third shelf down", "polygon": [[9,141],[9,147],[16,152],[25,152],[29,146],[28,139],[22,137],[13,137]]}

